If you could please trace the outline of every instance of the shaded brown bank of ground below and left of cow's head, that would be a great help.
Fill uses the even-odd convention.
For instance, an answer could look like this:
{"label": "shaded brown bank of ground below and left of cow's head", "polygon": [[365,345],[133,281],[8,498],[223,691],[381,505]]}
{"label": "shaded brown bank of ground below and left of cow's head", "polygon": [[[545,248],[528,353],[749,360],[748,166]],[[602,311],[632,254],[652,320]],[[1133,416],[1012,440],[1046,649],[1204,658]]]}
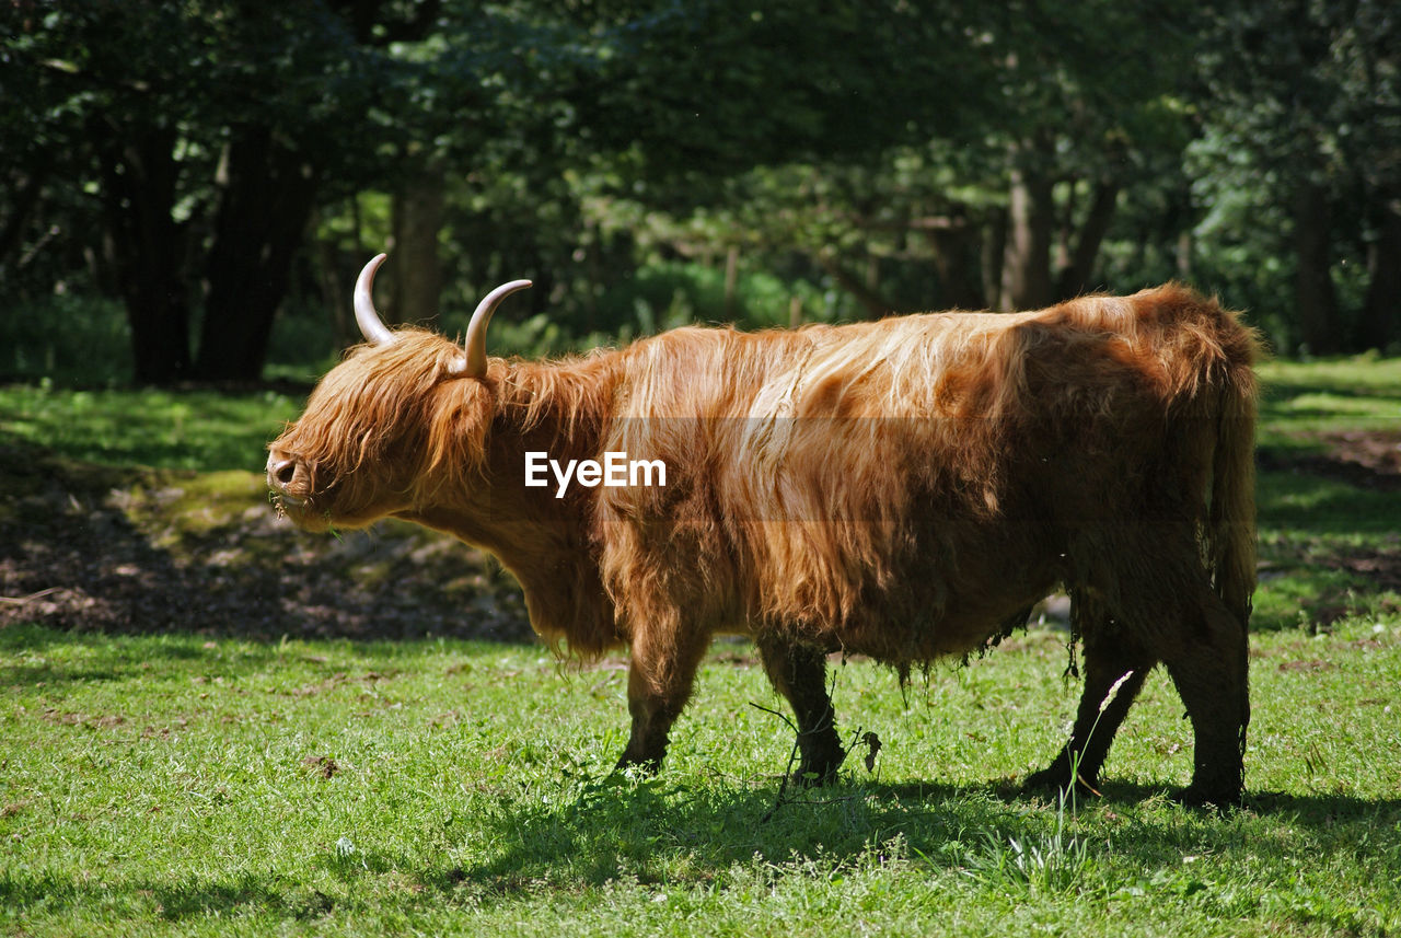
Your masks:
{"label": "shaded brown bank of ground below and left of cow's head", "polygon": [[403,524],[277,519],[244,472],[111,469],[0,442],[0,627],[527,640],[495,561]]}

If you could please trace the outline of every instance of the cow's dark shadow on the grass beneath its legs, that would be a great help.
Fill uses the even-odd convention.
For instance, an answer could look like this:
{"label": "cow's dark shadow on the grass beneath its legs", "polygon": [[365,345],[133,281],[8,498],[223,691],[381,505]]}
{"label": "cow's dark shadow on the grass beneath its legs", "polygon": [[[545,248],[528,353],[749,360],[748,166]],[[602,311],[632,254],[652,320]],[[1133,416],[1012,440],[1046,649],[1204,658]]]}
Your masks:
{"label": "cow's dark shadow on the grass beneath its legs", "polygon": [[1068,805],[1007,780],[857,781],[780,794],[778,783],[689,790],[609,777],[572,802],[497,818],[488,833],[493,855],[425,871],[425,885],[511,893],[560,878],[665,882],[682,869],[706,879],[752,862],[842,865],[891,853],[964,868],[998,844],[1045,844],[1058,830],[1150,874],[1184,855],[1258,850],[1259,816],[1281,813],[1310,850],[1355,853],[1366,844],[1379,875],[1401,876],[1401,799],[1261,791],[1243,809],[1219,813],[1170,805],[1170,795],[1164,787],[1110,781],[1098,798]]}

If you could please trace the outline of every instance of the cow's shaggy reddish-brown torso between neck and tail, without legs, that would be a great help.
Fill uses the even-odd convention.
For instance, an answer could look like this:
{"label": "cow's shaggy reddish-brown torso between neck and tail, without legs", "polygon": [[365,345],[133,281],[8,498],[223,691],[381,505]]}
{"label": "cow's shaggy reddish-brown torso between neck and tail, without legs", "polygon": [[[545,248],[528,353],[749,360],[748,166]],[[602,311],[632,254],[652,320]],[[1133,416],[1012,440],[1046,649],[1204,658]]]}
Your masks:
{"label": "cow's shaggy reddish-brown torso between neck and tail, without legs", "polygon": [[604,496],[629,528],[605,577],[623,617],[671,591],[722,629],[895,662],[967,650],[1079,575],[1094,525],[1198,510],[1213,382],[1250,342],[1180,287],[665,333],[625,353],[611,445],[674,469]]}

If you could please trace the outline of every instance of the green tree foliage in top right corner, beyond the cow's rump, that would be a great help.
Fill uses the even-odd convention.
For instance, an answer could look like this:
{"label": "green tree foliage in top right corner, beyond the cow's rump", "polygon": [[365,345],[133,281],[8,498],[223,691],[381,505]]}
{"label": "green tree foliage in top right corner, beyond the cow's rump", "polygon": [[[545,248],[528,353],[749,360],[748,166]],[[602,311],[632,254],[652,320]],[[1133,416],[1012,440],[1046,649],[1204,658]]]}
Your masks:
{"label": "green tree foliage in top right corner, beyond the cow's rump", "polygon": [[[1374,3],[1223,3],[1203,36],[1201,76],[1215,113],[1192,154],[1212,273],[1261,309],[1281,349],[1384,347],[1394,302],[1367,295],[1394,266],[1401,193],[1398,21]],[[1323,209],[1304,211],[1317,192]],[[1321,258],[1299,235],[1323,228]],[[1217,253],[1219,252],[1219,253]],[[1323,266],[1318,270],[1318,266]],[[1290,295],[1316,276],[1337,316],[1310,325]],[[1300,302],[1303,302],[1300,300]]]}

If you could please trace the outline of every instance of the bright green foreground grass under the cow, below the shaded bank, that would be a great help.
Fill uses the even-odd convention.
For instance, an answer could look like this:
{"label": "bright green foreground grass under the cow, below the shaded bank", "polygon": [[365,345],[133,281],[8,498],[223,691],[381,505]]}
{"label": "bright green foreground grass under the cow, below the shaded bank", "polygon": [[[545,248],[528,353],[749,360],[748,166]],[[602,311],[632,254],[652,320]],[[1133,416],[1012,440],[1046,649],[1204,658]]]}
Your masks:
{"label": "bright green foreground grass under the cow, below the shaded bank", "polygon": [[[884,742],[776,804],[792,739],[734,647],[663,776],[607,774],[616,664],[458,643],[0,633],[0,921],[11,934],[1388,934],[1401,928],[1401,620],[1257,640],[1254,806],[1177,808],[1191,735],[1154,675],[1075,808],[1003,780],[1076,692],[1033,631],[901,694]],[[1348,714],[1339,720],[1339,714]]]}

